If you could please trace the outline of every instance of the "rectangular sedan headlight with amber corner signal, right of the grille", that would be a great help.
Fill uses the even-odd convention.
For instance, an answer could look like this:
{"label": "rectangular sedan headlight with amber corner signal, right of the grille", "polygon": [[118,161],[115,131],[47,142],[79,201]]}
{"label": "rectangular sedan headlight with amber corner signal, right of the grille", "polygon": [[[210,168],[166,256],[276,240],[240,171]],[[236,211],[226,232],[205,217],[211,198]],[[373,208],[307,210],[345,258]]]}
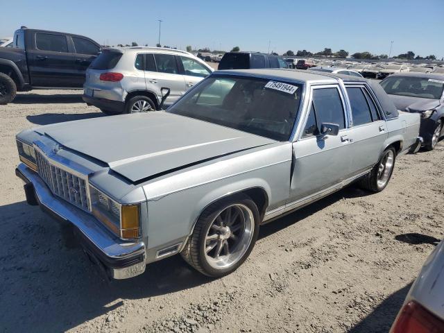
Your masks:
{"label": "rectangular sedan headlight with amber corner signal, right of the grille", "polygon": [[135,239],[140,236],[140,205],[121,205],[89,186],[92,214],[121,239]]}

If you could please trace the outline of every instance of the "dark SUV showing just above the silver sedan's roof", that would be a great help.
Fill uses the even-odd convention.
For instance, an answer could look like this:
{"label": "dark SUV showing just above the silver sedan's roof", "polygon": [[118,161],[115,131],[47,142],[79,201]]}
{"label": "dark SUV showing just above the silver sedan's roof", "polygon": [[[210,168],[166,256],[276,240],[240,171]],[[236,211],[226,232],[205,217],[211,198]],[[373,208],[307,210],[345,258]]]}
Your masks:
{"label": "dark SUV showing just above the silver sedan's roof", "polygon": [[218,69],[288,68],[280,56],[259,52],[227,52]]}

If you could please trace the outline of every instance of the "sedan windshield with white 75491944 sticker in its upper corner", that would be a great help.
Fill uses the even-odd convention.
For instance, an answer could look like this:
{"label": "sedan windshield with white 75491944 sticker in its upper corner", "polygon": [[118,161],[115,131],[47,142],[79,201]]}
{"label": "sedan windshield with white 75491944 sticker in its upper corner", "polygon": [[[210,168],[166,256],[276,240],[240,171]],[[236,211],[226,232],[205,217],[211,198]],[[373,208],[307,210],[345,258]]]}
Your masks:
{"label": "sedan windshield with white 75491944 sticker in its upper corner", "polygon": [[264,78],[212,76],[167,112],[209,121],[278,141],[287,141],[302,85]]}

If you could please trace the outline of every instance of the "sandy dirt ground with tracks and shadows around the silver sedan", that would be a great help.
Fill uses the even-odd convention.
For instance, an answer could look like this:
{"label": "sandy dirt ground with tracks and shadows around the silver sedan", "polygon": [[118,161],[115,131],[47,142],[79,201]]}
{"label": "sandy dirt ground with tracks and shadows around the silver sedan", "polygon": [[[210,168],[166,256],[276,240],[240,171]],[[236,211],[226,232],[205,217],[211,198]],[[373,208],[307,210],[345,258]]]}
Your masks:
{"label": "sandy dirt ground with tracks and shadows around the silver sedan", "polygon": [[15,134],[102,117],[80,91],[35,90],[0,106],[0,332],[387,332],[444,237],[444,142],[405,155],[380,194],[348,187],[261,228],[233,274],[205,278],[180,256],[108,284],[25,202]]}

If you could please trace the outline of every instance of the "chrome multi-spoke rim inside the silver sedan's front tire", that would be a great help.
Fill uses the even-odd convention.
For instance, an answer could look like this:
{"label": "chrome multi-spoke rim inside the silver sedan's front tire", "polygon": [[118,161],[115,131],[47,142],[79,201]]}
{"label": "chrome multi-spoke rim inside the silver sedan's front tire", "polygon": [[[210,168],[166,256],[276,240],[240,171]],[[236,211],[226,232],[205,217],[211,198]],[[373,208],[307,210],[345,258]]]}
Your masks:
{"label": "chrome multi-spoke rim inside the silver sedan's front tire", "polygon": [[205,259],[213,268],[228,268],[241,259],[253,239],[253,212],[246,205],[226,207],[217,214],[205,236]]}

